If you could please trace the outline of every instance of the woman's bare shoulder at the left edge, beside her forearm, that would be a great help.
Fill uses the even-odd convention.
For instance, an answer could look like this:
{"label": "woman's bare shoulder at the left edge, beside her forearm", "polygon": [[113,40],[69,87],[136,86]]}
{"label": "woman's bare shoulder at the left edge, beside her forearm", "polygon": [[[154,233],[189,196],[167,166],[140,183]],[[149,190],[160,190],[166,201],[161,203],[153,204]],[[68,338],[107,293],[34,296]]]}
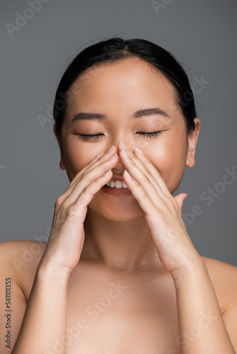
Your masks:
{"label": "woman's bare shoulder at the left edge, beside her forearm", "polygon": [[13,348],[46,242],[0,242],[0,353]]}

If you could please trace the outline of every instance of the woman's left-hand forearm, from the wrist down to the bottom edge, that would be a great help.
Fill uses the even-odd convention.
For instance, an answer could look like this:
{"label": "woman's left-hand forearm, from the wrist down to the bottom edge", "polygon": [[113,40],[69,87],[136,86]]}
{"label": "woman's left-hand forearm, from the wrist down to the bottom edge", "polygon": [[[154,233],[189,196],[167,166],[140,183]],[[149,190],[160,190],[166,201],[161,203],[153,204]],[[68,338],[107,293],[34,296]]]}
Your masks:
{"label": "woman's left-hand forearm, from the wrist down to the bottom edge", "polygon": [[54,268],[38,268],[12,354],[50,354],[55,346],[66,353],[67,283],[68,278]]}

